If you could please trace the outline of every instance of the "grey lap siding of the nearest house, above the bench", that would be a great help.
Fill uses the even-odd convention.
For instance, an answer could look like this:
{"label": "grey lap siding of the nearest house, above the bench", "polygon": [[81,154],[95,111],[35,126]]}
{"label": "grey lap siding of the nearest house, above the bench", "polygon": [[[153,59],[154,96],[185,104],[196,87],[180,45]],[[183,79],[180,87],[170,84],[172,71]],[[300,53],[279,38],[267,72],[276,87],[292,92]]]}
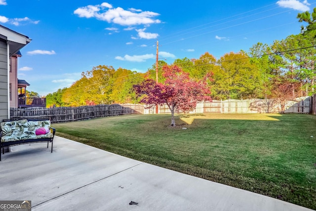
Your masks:
{"label": "grey lap siding of the nearest house, above the bench", "polygon": [[0,122],[8,118],[7,44],[0,40]]}

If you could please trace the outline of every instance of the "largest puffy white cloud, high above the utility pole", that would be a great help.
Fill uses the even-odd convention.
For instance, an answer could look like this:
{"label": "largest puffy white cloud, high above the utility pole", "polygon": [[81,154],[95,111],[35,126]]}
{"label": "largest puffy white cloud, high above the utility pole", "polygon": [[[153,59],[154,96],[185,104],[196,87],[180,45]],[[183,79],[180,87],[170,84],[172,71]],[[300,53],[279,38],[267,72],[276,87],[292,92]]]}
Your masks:
{"label": "largest puffy white cloud, high above the utility pole", "polygon": [[74,11],[81,18],[96,18],[108,23],[116,23],[122,26],[133,26],[140,24],[154,24],[161,23],[155,17],[159,14],[151,11],[142,11],[140,9],[131,8],[124,10],[121,7],[113,8],[109,3],[102,3],[101,5],[87,5],[79,7]]}

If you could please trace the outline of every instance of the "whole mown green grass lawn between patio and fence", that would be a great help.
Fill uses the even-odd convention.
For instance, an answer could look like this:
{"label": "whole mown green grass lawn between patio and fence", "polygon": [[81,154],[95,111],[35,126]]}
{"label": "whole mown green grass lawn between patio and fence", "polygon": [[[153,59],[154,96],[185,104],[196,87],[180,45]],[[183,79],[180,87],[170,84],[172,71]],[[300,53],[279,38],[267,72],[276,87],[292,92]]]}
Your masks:
{"label": "whole mown green grass lawn between patio and fence", "polygon": [[197,114],[176,117],[177,127],[170,122],[170,115],[127,115],[52,127],[122,156],[316,210],[316,116]]}

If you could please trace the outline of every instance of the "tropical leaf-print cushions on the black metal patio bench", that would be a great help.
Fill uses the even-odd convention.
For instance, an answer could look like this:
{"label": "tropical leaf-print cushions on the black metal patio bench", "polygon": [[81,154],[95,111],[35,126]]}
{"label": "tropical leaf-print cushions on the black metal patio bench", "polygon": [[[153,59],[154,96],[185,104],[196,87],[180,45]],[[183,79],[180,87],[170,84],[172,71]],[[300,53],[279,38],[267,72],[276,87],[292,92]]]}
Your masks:
{"label": "tropical leaf-print cushions on the black metal patio bench", "polygon": [[1,142],[18,141],[26,139],[51,138],[53,134],[49,130],[48,133],[36,135],[35,131],[40,127],[50,128],[50,121],[27,121],[18,120],[12,122],[2,122],[0,124],[2,136]]}

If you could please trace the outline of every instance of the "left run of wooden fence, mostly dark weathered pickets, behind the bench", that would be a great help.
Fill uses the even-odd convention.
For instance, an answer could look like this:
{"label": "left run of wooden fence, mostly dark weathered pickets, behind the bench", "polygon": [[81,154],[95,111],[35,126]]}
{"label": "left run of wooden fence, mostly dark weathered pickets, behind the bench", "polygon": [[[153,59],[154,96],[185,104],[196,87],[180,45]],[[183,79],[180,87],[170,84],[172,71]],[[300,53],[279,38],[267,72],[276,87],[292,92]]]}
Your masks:
{"label": "left run of wooden fence, mostly dark weathered pickets, behind the bench", "polygon": [[79,120],[88,120],[97,117],[143,113],[144,105],[136,104],[114,104],[55,108],[10,108],[10,118],[43,117],[49,118],[52,123],[72,122]]}

